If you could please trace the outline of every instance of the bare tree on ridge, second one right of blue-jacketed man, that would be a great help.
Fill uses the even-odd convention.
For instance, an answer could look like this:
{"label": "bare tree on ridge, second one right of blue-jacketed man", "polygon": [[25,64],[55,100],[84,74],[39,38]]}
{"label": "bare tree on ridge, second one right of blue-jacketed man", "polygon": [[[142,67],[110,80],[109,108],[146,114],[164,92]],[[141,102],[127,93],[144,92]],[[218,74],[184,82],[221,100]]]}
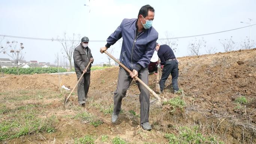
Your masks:
{"label": "bare tree on ridge, second one right of blue-jacketed man", "polygon": [[202,37],[202,39],[197,39],[195,37],[195,40],[190,42],[188,45],[188,49],[189,49],[191,55],[199,55],[199,50],[202,47],[204,47],[204,48],[206,47],[206,41],[204,40],[203,37]]}

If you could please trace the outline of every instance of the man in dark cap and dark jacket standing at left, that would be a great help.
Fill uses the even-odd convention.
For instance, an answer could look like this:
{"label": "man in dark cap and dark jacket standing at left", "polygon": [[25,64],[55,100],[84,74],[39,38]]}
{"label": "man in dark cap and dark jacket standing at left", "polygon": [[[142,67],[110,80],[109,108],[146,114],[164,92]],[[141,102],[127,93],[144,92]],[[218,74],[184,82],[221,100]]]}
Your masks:
{"label": "man in dark cap and dark jacket standing at left", "polygon": [[90,64],[87,70],[86,66],[89,64],[89,61],[91,61],[91,63],[94,61],[91,49],[88,48],[88,43],[88,37],[83,37],[80,45],[74,49],[73,54],[77,80],[82,76],[83,72],[85,72],[77,85],[78,102],[82,107],[85,107],[85,101],[90,86],[90,72],[92,65]]}

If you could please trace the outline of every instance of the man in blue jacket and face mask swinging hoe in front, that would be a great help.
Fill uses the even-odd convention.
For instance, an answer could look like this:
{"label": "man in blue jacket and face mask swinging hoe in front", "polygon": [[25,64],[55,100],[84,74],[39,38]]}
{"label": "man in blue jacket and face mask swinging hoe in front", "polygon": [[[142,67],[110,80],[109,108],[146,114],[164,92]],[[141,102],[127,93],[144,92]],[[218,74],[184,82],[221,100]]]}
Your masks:
{"label": "man in blue jacket and face mask swinging hoe in front", "polygon": [[[128,73],[122,67],[119,69],[117,88],[114,92],[113,123],[118,119],[122,99],[132,79],[138,76],[148,85],[148,65],[158,39],[158,32],[152,27],[154,16],[153,7],[142,6],[138,18],[124,19],[114,33],[107,38],[107,44],[100,48],[100,52],[103,53],[123,37],[120,62],[132,71]],[[140,123],[144,130],[150,131],[152,128],[149,123],[149,91],[140,83],[138,88],[140,90]]]}

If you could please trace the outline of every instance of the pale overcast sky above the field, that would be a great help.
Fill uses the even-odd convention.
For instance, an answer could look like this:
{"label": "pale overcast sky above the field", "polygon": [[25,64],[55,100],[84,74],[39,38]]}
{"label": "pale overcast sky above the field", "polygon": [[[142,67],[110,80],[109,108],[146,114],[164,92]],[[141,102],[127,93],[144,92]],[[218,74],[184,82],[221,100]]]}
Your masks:
{"label": "pale overcast sky above the field", "polygon": [[[255,0],[1,0],[0,35],[56,39],[65,32],[70,37],[73,33],[88,36],[89,40],[102,40],[89,42],[95,63],[100,63],[108,60],[99,52],[107,37],[122,19],[137,18],[140,7],[145,4],[155,9],[153,27],[158,31],[159,39],[166,38],[166,31],[170,37],[182,37],[244,27],[249,24],[240,22],[249,22],[248,18],[256,24]],[[252,40],[255,40],[256,26],[252,26],[251,31]],[[216,52],[223,52],[219,39],[231,36],[240,49],[240,43],[250,36],[250,28],[203,37],[208,48],[215,47]],[[178,39],[176,57],[189,55],[187,47],[193,39]],[[62,46],[56,41],[9,37],[5,40],[24,43],[26,61],[54,63],[55,54],[61,55]],[[119,58],[121,42],[111,48],[114,56]],[[200,54],[205,53],[205,49],[200,50]],[[9,57],[0,53],[0,58]]]}

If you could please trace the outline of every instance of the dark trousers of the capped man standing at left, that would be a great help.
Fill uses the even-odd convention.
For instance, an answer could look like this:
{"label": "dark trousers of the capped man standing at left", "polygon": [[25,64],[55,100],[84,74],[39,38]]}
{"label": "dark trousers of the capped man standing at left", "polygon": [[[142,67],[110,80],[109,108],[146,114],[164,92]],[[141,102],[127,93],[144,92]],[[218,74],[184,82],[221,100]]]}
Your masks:
{"label": "dark trousers of the capped man standing at left", "polygon": [[[76,71],[77,80],[82,76],[82,71]],[[79,104],[84,104],[90,86],[91,73],[85,73],[77,84],[77,95]]]}

